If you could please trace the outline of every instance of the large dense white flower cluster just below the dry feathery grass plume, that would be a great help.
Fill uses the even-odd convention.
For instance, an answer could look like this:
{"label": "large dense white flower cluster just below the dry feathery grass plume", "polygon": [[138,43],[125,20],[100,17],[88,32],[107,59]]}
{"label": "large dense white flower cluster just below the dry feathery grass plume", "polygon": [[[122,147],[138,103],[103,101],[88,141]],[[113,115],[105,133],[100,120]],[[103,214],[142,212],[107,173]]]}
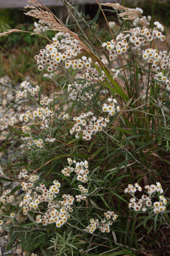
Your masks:
{"label": "large dense white flower cluster just below the dry feathery grass plume", "polygon": [[71,37],[69,33],[59,32],[52,38],[53,43],[47,44],[45,49],[41,49],[39,55],[34,58],[37,60],[39,70],[48,66],[48,71],[57,69],[59,64],[64,64],[65,68],[90,69],[92,59],[83,56],[81,59],[75,57],[82,52],[79,40]]}

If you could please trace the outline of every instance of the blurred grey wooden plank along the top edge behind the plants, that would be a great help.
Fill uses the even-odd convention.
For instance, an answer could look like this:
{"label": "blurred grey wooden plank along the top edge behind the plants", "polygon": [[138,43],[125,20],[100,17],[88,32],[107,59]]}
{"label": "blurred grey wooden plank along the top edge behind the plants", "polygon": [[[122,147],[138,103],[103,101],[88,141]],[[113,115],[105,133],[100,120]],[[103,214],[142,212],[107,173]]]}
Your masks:
{"label": "blurred grey wooden plank along the top edge behind the plants", "polygon": [[[46,6],[63,6],[60,0],[41,0],[41,2]],[[72,0],[72,3],[76,3],[77,0]],[[95,0],[78,0],[79,3],[96,3]],[[99,3],[117,2],[116,0],[99,0]],[[0,0],[0,8],[23,8],[27,5],[27,0]]]}

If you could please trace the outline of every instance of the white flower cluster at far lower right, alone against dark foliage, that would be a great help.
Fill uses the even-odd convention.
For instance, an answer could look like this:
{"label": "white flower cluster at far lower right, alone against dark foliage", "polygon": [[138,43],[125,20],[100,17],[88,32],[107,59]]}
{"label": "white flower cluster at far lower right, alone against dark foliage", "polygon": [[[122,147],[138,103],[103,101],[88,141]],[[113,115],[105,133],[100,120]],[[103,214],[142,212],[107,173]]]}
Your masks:
{"label": "white flower cluster at far lower right, alone against dark foliage", "polygon": [[[132,197],[130,199],[130,203],[128,204],[129,209],[134,209],[136,212],[141,210],[142,212],[146,212],[147,210],[153,210],[154,213],[164,212],[166,210],[165,204],[167,204],[167,199],[164,196],[159,196],[159,202],[155,202],[152,204],[151,198],[154,196],[155,192],[163,193],[163,189],[161,183],[156,182],[152,185],[146,185],[145,189],[147,189],[147,195],[142,195],[141,199],[137,199],[136,197]],[[128,187],[125,188],[125,193],[130,193],[130,195],[134,196],[136,190],[142,191],[142,187],[139,186],[138,183],[128,184]]]}

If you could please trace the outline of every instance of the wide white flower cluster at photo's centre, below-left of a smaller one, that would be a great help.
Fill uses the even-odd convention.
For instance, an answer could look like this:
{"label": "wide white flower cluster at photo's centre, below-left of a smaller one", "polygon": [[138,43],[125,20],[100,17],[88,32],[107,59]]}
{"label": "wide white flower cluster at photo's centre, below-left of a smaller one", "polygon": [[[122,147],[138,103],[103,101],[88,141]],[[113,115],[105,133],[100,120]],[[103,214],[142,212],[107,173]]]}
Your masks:
{"label": "wide white flower cluster at photo's centre, below-left of a smaller one", "polygon": [[[92,116],[92,117],[90,117]],[[83,140],[91,140],[92,135],[95,135],[97,131],[101,131],[107,126],[110,121],[109,118],[99,117],[98,119],[94,116],[93,111],[82,113],[80,116],[73,118],[76,123],[71,128],[70,133],[76,132],[76,138],[79,138],[79,134],[82,132]]]}

